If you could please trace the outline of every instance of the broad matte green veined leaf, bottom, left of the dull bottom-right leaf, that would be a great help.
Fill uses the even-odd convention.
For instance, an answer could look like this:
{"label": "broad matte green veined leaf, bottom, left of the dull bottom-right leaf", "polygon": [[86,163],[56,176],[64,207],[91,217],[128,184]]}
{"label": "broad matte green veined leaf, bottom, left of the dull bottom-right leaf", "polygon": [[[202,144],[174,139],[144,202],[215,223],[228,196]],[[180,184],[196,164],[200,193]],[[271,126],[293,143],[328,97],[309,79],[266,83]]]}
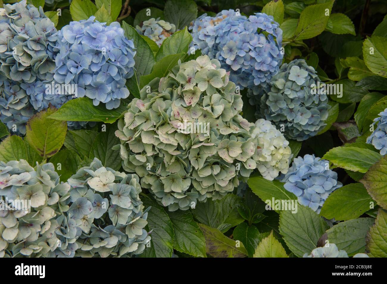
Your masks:
{"label": "broad matte green veined leaf, bottom, left of the dull bottom-right leaf", "polygon": [[302,205],[298,205],[297,213],[284,210],[279,217],[279,232],[298,257],[310,254],[327,228],[327,223],[315,211]]}

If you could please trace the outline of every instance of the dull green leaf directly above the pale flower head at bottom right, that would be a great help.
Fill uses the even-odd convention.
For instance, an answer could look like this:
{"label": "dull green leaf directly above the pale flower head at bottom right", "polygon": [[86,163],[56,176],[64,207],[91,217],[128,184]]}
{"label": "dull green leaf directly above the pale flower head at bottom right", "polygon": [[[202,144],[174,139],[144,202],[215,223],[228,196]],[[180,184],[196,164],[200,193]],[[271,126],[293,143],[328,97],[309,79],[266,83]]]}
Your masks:
{"label": "dull green leaf directly above the pale flower head at bottom right", "polygon": [[365,237],[373,222],[373,218],[358,218],[338,223],[327,230],[329,243],[345,250],[348,256],[365,252]]}

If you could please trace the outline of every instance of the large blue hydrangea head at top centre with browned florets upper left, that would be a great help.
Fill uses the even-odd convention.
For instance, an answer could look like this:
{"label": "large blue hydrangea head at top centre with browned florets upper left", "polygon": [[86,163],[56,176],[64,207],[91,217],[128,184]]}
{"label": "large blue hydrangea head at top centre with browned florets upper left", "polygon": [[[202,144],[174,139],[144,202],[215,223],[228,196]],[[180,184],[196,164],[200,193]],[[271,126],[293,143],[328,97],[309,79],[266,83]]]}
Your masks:
{"label": "large blue hydrangea head at top centre with browned florets upper left", "polygon": [[242,89],[259,92],[279,70],[282,30],[272,16],[255,13],[247,18],[225,10],[212,19],[195,20],[192,30],[195,46],[218,59]]}

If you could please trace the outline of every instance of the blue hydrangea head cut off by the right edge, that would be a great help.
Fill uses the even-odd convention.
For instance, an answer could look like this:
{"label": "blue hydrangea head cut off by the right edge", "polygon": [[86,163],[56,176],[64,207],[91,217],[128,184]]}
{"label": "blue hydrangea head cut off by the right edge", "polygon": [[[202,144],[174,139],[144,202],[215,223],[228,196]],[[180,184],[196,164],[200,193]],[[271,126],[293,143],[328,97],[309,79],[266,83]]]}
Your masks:
{"label": "blue hydrangea head cut off by the right edge", "polygon": [[373,120],[373,125],[378,123],[376,129],[367,138],[367,143],[380,150],[380,155],[387,153],[387,108],[379,113],[379,117]]}

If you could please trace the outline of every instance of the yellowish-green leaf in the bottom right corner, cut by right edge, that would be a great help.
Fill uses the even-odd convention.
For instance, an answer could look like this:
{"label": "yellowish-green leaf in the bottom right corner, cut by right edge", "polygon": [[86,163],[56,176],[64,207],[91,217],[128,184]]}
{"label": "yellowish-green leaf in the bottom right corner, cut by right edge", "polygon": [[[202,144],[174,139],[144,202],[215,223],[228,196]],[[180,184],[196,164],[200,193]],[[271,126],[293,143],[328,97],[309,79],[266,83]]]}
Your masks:
{"label": "yellowish-green leaf in the bottom right corner, cut by right edge", "polygon": [[379,208],[375,225],[366,237],[366,248],[370,257],[387,257],[387,212]]}

